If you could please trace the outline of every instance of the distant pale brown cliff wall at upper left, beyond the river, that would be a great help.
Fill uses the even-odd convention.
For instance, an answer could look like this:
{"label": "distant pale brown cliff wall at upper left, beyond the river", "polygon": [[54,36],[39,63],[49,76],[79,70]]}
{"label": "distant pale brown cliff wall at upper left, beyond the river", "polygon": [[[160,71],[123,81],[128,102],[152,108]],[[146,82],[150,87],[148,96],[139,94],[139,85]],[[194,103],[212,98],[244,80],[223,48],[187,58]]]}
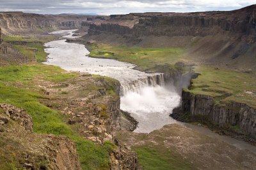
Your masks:
{"label": "distant pale brown cliff wall at upper left, beyond the river", "polygon": [[[49,31],[49,29],[81,29],[86,15],[39,15],[34,13],[4,12],[0,13],[0,27],[4,34],[17,34],[28,31]],[[90,17],[92,20],[102,18]]]}

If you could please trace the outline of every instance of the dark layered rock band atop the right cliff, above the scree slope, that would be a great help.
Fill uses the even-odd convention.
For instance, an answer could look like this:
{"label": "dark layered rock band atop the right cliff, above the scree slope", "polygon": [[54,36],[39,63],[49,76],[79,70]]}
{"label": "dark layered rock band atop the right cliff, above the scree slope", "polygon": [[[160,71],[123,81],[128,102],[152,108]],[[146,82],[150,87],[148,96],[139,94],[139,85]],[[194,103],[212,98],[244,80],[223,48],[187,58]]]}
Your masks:
{"label": "dark layered rock band atop the right cliff, above the scree slope", "polygon": [[[131,13],[112,15],[109,20],[90,24],[89,34],[111,32],[131,36],[214,36],[236,34],[254,36],[256,7],[236,11],[200,13]],[[250,39],[255,41],[255,39]]]}

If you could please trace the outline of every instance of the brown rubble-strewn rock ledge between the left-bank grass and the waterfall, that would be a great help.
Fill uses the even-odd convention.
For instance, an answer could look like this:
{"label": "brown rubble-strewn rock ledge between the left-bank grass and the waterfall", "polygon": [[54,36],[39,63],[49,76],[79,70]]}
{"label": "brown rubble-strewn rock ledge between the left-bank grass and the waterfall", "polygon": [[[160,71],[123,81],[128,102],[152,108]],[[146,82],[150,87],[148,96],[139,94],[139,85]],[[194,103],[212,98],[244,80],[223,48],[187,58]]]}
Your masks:
{"label": "brown rubble-strewn rock ledge between the left-bank grass and the waterfall", "polygon": [[[40,87],[42,86],[40,83]],[[56,87],[68,92],[68,95],[60,94]],[[109,88],[116,94],[109,95]],[[115,143],[115,148],[109,151],[111,169],[138,169],[136,153],[116,141],[113,135],[121,129],[133,131],[138,124],[129,113],[120,110],[118,81],[109,82],[102,77],[93,78],[91,74],[81,73],[78,78],[61,84],[46,83],[44,89],[45,94],[51,97],[45,100],[45,105],[65,115],[67,124],[79,127],[77,132],[83,138],[98,145]]]}

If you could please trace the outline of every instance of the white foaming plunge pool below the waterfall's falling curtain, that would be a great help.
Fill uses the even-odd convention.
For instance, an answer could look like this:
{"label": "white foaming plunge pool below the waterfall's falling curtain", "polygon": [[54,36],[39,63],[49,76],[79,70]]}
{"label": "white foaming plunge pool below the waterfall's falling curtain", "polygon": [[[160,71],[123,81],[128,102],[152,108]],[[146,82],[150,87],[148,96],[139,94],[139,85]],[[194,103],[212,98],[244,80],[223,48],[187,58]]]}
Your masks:
{"label": "white foaming plunge pool below the waterfall's falling curtain", "polygon": [[151,132],[163,125],[176,123],[169,114],[179,103],[180,96],[177,92],[157,85],[127,92],[121,97],[120,108],[139,120],[135,132]]}

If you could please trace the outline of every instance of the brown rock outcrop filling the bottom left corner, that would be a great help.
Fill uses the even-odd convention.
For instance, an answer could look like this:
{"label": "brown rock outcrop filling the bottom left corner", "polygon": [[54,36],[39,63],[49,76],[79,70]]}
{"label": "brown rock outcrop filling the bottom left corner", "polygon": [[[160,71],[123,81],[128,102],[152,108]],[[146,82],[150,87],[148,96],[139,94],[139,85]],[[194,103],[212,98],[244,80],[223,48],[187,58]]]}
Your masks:
{"label": "brown rock outcrop filling the bottom left corner", "polygon": [[70,139],[36,134],[32,127],[24,110],[0,104],[1,169],[81,169]]}

